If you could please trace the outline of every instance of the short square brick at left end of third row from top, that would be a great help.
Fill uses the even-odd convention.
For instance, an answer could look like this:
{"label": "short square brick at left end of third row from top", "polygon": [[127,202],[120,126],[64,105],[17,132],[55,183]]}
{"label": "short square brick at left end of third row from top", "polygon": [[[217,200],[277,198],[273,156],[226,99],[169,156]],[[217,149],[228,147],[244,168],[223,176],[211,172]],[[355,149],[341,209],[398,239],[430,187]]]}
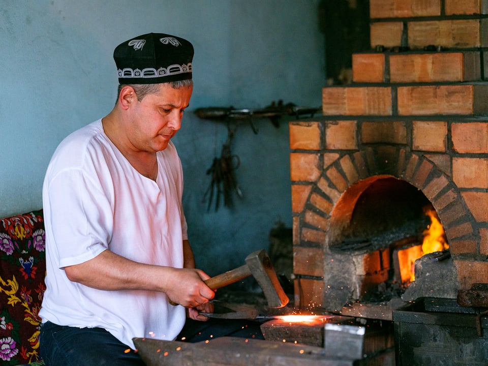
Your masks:
{"label": "short square brick at left end of third row from top", "polygon": [[383,82],[384,53],[354,53],[352,55],[352,81]]}

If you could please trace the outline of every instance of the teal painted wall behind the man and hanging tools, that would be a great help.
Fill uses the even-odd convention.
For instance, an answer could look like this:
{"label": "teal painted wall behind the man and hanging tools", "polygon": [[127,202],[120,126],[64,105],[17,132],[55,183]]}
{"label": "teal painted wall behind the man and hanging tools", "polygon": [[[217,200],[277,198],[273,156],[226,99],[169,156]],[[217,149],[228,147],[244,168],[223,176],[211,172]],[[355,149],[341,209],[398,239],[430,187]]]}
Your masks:
{"label": "teal painted wall behind the man and hanging tools", "polygon": [[161,32],[195,46],[194,93],[174,143],[186,176],[184,206],[197,264],[216,275],[268,248],[292,225],[288,121],[239,125],[232,144],[243,199],[207,212],[205,174],[226,125],[200,107],[261,108],[283,100],[320,107],[324,41],[316,0],[17,0],[0,3],[0,217],[42,207],[57,144],[106,115],[116,98],[114,47]]}

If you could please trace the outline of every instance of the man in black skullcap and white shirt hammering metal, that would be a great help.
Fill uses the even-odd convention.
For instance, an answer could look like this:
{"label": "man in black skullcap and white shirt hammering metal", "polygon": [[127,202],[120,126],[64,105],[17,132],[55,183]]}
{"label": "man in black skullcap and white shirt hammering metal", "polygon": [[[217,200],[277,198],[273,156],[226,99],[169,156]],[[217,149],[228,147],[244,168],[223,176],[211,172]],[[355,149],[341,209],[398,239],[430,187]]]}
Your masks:
{"label": "man in black skullcap and white shirt hammering metal", "polygon": [[[193,46],[146,34],[117,46],[113,110],[56,149],[43,186],[41,356],[55,365],[142,365],[134,337],[173,340],[206,320],[171,138],[193,91]],[[178,303],[178,305],[171,304]]]}

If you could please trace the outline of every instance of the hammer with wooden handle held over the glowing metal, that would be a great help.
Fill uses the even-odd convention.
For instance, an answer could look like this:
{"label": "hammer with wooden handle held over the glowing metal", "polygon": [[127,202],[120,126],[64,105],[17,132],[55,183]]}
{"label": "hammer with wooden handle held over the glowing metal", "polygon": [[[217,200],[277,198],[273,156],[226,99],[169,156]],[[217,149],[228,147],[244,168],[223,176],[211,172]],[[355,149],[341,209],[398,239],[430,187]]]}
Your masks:
{"label": "hammer with wooden handle held over the glowing metal", "polygon": [[[283,291],[271,264],[271,260],[263,249],[248,255],[246,257],[246,264],[221,275],[209,278],[204,282],[212,290],[217,290],[251,275],[253,275],[263,290],[270,308],[283,308],[286,306],[289,301],[288,296]],[[175,305],[173,301],[170,301],[170,303]]]}

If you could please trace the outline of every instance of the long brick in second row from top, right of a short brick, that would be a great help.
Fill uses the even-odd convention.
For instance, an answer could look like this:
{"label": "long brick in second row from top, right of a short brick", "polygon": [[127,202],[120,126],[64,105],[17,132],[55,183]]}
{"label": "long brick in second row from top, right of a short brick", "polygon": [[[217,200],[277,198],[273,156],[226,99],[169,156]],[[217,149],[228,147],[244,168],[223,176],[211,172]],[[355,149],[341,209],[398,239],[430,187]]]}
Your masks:
{"label": "long brick in second row from top, right of a short brick", "polygon": [[408,27],[408,45],[422,48],[440,45],[449,48],[485,47],[484,24],[480,19],[448,19],[411,21]]}

